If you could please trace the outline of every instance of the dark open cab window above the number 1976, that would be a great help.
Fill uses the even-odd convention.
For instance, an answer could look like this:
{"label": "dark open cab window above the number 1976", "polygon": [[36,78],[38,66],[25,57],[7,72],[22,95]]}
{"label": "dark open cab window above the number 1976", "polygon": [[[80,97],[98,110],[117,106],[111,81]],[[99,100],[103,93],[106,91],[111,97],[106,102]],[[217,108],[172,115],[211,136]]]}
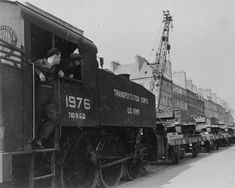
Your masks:
{"label": "dark open cab window above the number 1976", "polygon": [[52,47],[61,52],[59,66],[65,73],[65,78],[82,80],[82,56],[79,54],[78,45],[31,24],[31,59],[45,58],[47,51]]}

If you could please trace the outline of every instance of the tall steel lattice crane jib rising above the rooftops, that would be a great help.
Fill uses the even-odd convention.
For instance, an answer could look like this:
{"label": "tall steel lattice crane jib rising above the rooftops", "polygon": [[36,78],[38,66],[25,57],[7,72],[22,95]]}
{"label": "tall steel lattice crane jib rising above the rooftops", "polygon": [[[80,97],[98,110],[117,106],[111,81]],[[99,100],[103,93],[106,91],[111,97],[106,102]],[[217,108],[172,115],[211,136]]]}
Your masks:
{"label": "tall steel lattice crane jib rising above the rooftops", "polygon": [[[169,44],[169,31],[172,28],[172,16],[170,12],[163,11],[163,31],[161,34],[161,40],[156,52],[156,59],[154,63],[150,66],[153,69],[153,87],[152,92],[156,96],[156,108],[159,109],[160,106],[160,96],[161,96],[161,83],[164,77],[166,64],[170,61],[170,44]],[[160,110],[160,109],[159,109]]]}

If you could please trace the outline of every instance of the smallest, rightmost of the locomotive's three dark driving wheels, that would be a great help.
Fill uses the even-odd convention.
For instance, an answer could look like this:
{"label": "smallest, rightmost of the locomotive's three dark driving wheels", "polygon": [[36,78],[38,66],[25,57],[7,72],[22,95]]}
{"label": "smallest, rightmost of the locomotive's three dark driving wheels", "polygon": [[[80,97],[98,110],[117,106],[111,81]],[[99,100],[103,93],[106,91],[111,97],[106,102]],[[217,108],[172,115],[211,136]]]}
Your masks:
{"label": "smallest, rightmost of the locomotive's three dark driving wheels", "polygon": [[136,179],[142,170],[141,158],[131,158],[126,162],[126,177],[128,180]]}

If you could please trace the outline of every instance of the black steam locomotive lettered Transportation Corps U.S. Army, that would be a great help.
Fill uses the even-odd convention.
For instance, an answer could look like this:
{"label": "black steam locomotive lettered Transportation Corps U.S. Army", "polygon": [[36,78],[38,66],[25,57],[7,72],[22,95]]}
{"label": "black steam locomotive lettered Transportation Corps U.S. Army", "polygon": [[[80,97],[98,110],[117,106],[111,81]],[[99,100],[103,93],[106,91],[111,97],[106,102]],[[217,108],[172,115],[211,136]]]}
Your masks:
{"label": "black steam locomotive lettered Transportation Corps U.S. Army", "polygon": [[[99,69],[93,42],[51,14],[5,0],[0,14],[0,185],[114,187],[124,175],[137,177],[142,137],[154,127],[154,95]],[[81,79],[54,81],[55,133],[45,143],[49,148],[34,150],[34,61],[52,47],[62,63],[79,49]]]}

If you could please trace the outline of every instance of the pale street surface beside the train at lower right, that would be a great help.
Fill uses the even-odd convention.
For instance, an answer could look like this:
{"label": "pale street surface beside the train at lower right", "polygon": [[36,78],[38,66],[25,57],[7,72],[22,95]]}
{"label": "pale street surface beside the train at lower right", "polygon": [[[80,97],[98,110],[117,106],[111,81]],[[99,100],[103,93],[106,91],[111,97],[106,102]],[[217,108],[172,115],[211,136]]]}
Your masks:
{"label": "pale street surface beside the train at lower right", "polygon": [[178,165],[148,167],[146,176],[118,188],[235,188],[235,145],[188,156]]}

